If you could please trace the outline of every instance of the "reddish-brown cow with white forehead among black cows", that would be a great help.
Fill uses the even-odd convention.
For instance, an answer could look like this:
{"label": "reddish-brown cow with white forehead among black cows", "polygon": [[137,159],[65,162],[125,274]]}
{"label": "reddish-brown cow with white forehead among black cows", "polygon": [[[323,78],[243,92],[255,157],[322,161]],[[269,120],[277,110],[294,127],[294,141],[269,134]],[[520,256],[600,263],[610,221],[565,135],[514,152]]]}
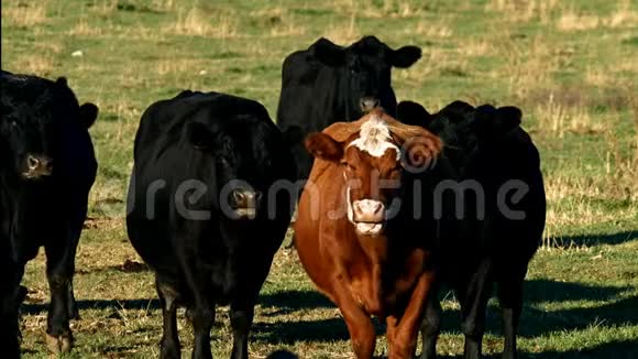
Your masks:
{"label": "reddish-brown cow with white forehead among black cows", "polygon": [[403,215],[414,172],[406,168],[426,166],[441,145],[382,110],[306,139],[316,160],[299,202],[296,246],[317,287],[339,306],[358,358],[374,353],[371,315],[386,320],[389,358],[415,352],[435,275],[422,233],[415,236],[406,225],[413,217]]}

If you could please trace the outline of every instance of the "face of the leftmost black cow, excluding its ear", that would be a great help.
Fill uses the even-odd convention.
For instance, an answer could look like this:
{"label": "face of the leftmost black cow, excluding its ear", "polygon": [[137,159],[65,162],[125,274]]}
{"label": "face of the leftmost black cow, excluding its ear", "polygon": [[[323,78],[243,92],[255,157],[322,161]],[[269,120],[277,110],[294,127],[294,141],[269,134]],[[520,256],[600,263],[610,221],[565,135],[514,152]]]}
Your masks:
{"label": "face of the leftmost black cow, excluding its ear", "polygon": [[2,96],[0,152],[10,171],[26,180],[52,174],[53,119],[47,96],[32,100]]}

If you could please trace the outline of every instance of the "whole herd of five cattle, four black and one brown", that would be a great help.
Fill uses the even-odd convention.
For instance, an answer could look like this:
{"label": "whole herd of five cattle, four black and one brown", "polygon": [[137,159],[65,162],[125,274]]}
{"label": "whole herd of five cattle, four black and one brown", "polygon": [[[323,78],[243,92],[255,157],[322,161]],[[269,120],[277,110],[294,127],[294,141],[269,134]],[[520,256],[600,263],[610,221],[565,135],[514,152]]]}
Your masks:
{"label": "whole herd of five cattle, four black and one brown", "polygon": [[[504,358],[516,358],[527,265],[544,227],[539,154],[516,107],[454,101],[437,113],[397,104],[393,67],[421,56],[374,36],[320,39],[283,63],[275,124],[257,101],[185,90],[151,105],[134,142],[127,228],[155,273],[161,358],[180,358],[187,308],[193,358],[211,358],[216,305],[230,305],[232,358],[248,358],[254,305],[290,218],[302,266],[341,311],[358,358],[436,357],[438,293],[461,304],[465,358],[481,358],[496,284]],[[97,173],[98,116],[65,78],[1,74],[0,350],[20,357],[20,285],[45,248],[46,342],[73,347],[75,253]],[[341,122],[338,122],[341,121]],[[314,157],[314,160],[312,160]]]}

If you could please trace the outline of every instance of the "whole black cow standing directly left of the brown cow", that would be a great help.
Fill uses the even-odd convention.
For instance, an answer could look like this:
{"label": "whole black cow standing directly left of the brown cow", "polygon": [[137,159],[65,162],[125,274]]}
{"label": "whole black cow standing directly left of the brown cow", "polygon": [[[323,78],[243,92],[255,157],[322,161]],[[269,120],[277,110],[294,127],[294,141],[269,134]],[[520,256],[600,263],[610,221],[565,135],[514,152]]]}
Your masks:
{"label": "whole black cow standing directly left of the brown cow", "polygon": [[144,112],[134,156],[127,225],[155,271],[161,357],[179,358],[175,315],[186,306],[193,358],[211,358],[215,306],[230,304],[232,358],[246,358],[253,306],[294,210],[294,192],[273,191],[294,182],[289,145],[261,104],[184,91]]}

